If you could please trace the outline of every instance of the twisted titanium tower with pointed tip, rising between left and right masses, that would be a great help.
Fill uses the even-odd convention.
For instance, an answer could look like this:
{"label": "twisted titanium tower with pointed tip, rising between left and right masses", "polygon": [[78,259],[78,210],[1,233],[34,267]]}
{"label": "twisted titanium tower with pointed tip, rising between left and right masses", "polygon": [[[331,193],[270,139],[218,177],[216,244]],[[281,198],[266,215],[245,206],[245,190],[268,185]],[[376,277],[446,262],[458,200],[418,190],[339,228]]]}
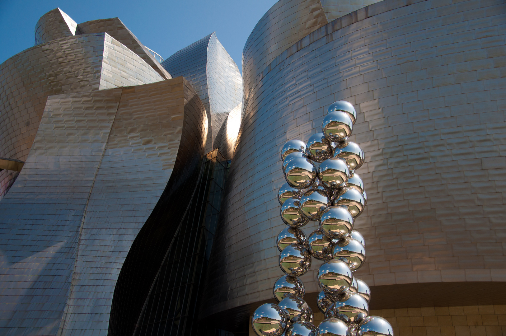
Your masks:
{"label": "twisted titanium tower with pointed tip, rising between left and right masses", "polygon": [[162,66],[174,76],[184,76],[192,83],[209,119],[206,151],[221,149],[223,124],[230,111],[242,103],[242,77],[216,33],[176,52],[163,61]]}

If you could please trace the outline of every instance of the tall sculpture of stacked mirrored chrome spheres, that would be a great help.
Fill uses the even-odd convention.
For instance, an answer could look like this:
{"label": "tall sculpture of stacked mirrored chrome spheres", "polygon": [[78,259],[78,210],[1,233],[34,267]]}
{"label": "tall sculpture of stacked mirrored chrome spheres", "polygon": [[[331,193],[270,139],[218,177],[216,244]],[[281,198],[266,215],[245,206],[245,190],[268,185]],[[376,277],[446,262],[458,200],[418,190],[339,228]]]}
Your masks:
{"label": "tall sculpture of stacked mirrored chrome spheres", "polygon": [[[355,173],[364,163],[364,152],[348,141],[356,117],[352,104],[334,102],[321,133],[307,143],[288,141],[281,150],[286,183],[278,200],[287,227],[279,233],[277,247],[284,275],[273,288],[278,304],[263,304],[252,316],[258,336],[393,336],[385,319],[368,316],[369,287],[354,277],[365,262],[365,241],[353,224],[367,202],[364,183]],[[309,221],[319,222],[320,228],[306,237],[301,227]],[[323,261],[317,304],[325,319],[318,326],[299,279],[312,258]]]}

